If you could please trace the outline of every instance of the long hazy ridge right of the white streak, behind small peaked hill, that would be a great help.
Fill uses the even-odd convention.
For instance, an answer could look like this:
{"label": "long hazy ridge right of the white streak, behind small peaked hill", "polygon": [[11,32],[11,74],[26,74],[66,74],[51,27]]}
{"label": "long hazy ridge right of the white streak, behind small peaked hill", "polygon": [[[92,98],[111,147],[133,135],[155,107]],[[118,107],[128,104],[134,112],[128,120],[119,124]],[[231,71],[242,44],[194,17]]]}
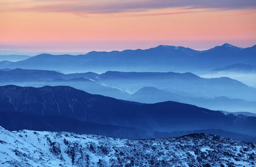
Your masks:
{"label": "long hazy ridge right of the white streak, behind small peaked hill", "polygon": [[195,97],[241,98],[256,101],[256,89],[237,80],[227,77],[201,78],[190,72],[105,72],[97,77],[99,81],[137,92],[142,87],[157,87],[159,89],[176,89],[192,94]]}

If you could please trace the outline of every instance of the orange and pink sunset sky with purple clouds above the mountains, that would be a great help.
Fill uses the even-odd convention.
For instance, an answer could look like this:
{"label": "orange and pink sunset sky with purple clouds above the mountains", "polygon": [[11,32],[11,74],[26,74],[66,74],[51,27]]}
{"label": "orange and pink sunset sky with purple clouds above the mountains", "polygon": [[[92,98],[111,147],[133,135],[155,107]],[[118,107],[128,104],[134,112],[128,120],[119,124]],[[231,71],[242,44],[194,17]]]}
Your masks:
{"label": "orange and pink sunset sky with purple clouds above the mountains", "polygon": [[256,44],[256,0],[0,0],[0,55]]}

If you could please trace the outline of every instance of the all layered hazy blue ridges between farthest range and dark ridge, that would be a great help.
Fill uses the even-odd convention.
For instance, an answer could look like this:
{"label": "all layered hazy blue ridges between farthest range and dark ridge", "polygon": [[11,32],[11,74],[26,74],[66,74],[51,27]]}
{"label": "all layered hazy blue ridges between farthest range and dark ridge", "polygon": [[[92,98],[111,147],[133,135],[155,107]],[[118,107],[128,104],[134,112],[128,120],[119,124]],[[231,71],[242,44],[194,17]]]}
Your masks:
{"label": "all layered hazy blue ridges between farthest range and dark ridge", "polygon": [[63,74],[48,70],[0,69],[0,85],[6,84],[72,86],[91,94],[141,103],[176,101],[214,110],[256,112],[254,88],[230,78],[206,79],[189,72],[109,71],[99,75],[93,72]]}

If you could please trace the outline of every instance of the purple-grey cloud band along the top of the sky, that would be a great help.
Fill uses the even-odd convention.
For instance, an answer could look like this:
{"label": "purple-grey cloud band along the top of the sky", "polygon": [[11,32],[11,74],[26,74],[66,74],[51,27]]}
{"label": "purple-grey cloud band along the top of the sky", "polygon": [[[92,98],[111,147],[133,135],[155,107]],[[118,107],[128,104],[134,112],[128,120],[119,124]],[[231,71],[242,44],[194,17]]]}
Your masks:
{"label": "purple-grey cloud band along the top of the sky", "polygon": [[[256,0],[36,0],[16,11],[112,14],[154,9],[256,9]],[[184,12],[186,13],[186,12]]]}

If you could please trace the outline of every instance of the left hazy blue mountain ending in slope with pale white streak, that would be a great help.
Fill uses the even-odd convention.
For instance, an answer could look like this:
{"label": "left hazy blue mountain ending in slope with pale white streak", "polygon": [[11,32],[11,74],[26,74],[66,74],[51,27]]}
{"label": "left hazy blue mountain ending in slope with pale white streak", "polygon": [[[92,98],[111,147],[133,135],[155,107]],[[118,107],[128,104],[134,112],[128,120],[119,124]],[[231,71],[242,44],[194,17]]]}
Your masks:
{"label": "left hazy blue mountain ending in slope with pale white streak", "polygon": [[62,74],[49,70],[12,69],[0,70],[0,85],[15,84],[20,86],[72,86],[77,89],[109,97],[126,99],[129,93],[116,87],[108,86],[100,81],[93,81],[99,74],[93,72]]}

